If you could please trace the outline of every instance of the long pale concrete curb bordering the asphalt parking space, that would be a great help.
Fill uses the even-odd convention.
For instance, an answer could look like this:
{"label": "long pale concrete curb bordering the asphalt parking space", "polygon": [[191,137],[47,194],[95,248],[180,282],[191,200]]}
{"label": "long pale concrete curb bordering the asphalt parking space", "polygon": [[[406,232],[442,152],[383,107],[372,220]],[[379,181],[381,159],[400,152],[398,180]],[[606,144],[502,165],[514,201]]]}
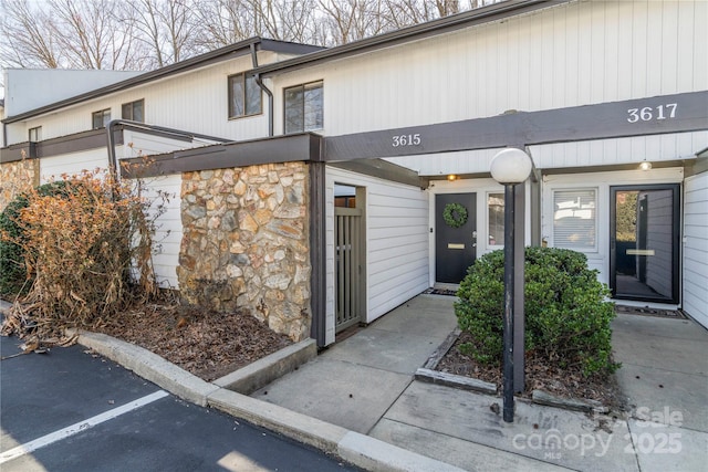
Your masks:
{"label": "long pale concrete curb bordering the asphalt parking space", "polygon": [[[353,465],[382,472],[462,472],[462,469],[385,441],[207,382],[160,356],[121,339],[104,334],[74,333],[79,334],[79,344],[121,364],[173,395],[336,454]],[[300,355],[306,355],[309,350],[309,343],[293,349]],[[226,380],[222,382],[226,384]]]}

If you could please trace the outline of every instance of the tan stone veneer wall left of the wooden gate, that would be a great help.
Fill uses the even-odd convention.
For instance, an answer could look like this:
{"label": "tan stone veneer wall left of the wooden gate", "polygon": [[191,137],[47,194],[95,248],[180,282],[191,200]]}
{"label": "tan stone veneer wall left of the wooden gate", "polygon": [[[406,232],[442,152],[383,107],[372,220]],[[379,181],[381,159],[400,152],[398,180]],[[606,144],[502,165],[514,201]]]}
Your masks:
{"label": "tan stone veneer wall left of the wooden gate", "polygon": [[177,276],[190,304],[248,308],[293,340],[310,334],[308,167],[183,174]]}

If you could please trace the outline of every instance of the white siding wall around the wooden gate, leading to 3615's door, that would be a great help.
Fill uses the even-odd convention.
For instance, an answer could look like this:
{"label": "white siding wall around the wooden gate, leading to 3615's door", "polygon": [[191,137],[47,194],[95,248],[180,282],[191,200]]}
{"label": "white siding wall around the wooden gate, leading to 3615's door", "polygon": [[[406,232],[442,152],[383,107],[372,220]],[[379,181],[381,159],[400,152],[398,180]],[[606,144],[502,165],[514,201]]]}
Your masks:
{"label": "white siding wall around the wooden gate, leading to 3615's door", "polygon": [[366,323],[428,285],[428,197],[417,187],[327,167],[326,344],[334,342],[334,185],[366,188]]}

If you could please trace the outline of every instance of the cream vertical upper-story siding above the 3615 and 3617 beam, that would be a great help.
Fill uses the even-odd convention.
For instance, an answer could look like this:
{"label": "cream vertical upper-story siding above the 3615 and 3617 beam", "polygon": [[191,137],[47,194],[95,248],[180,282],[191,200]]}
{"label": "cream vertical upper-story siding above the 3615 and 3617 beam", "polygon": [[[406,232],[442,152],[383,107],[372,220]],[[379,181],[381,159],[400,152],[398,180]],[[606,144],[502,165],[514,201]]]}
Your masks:
{"label": "cream vertical upper-story siding above the 3615 and 3617 beam", "polygon": [[569,2],[289,72],[274,93],[323,80],[335,136],[702,91],[707,15],[705,1]]}

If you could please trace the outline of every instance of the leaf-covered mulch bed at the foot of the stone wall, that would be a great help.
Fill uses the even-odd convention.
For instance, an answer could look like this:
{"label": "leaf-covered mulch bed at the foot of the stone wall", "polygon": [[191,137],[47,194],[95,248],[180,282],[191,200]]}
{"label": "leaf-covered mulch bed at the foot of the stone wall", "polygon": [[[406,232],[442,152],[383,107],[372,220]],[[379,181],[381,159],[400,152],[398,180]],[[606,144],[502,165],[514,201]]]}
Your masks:
{"label": "leaf-covered mulch bed at the foot of the stone wall", "polygon": [[144,347],[207,381],[293,344],[248,313],[181,305],[145,305],[92,331]]}

